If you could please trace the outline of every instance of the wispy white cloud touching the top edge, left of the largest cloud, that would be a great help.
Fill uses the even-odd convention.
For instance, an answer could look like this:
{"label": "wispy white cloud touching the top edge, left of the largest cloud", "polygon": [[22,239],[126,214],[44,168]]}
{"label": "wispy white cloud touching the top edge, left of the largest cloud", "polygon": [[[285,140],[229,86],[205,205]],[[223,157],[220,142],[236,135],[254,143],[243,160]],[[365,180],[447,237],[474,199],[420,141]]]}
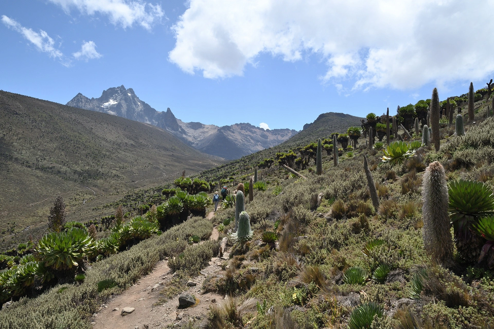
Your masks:
{"label": "wispy white cloud touching the top edge, left of the largest cloud", "polygon": [[152,4],[141,0],[49,0],[60,5],[66,13],[75,7],[81,13],[107,15],[114,25],[124,29],[134,23],[151,30],[154,23],[165,15],[161,4]]}

